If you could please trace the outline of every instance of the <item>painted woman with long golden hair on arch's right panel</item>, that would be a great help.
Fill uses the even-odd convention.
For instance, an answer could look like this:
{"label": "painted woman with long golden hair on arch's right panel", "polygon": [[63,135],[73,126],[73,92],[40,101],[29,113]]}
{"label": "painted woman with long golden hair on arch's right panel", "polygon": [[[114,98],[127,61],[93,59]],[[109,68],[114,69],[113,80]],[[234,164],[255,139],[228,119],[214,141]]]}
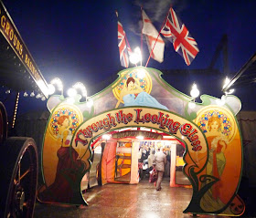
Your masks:
{"label": "painted woman with long golden hair on arch's right panel", "polygon": [[[208,132],[206,133],[208,140],[208,164],[206,174],[215,177],[218,182],[214,183],[204,194],[201,200],[201,207],[207,212],[218,211],[223,208],[227,202],[221,200],[221,175],[225,169],[226,158],[224,151],[227,149],[229,140],[221,133],[221,119],[218,115],[213,115],[208,119]],[[202,183],[206,185],[207,182]],[[210,203],[206,203],[210,202]],[[210,207],[208,205],[211,205]]]}

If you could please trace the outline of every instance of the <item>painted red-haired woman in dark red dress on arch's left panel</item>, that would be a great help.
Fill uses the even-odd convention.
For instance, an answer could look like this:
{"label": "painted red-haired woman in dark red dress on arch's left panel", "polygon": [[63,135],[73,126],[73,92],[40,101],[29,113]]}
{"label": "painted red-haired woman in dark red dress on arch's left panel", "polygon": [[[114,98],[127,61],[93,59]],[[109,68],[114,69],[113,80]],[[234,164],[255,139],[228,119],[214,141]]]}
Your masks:
{"label": "painted red-haired woman in dark red dress on arch's left panel", "polygon": [[38,193],[42,202],[72,202],[74,183],[77,181],[76,171],[84,169],[84,162],[80,160],[79,153],[70,146],[72,133],[68,115],[58,119],[59,132],[56,146],[58,165],[55,180],[43,192]]}

